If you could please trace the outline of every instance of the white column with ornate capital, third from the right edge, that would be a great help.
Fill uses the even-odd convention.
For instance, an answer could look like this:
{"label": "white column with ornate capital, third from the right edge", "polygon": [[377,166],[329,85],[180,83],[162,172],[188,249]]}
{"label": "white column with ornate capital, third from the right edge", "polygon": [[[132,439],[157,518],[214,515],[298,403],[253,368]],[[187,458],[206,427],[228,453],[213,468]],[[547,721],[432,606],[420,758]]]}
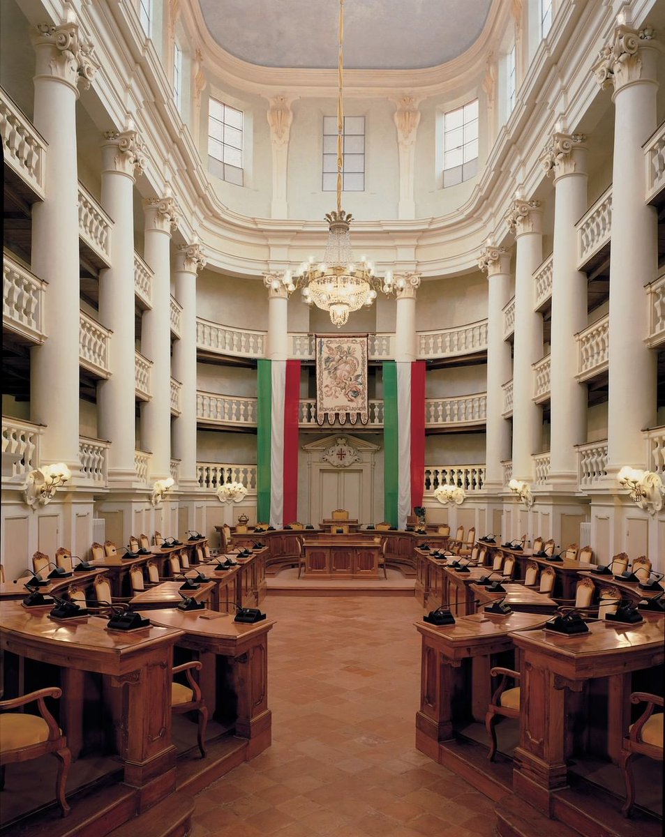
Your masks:
{"label": "white column with ornate capital, third from the right edge", "polygon": [[539,201],[515,198],[507,214],[516,241],[513,350],[513,479],[534,479],[532,454],[540,448],[543,414],[534,403],[532,364],[543,357],[543,317],[534,311],[534,270],[543,261]]}

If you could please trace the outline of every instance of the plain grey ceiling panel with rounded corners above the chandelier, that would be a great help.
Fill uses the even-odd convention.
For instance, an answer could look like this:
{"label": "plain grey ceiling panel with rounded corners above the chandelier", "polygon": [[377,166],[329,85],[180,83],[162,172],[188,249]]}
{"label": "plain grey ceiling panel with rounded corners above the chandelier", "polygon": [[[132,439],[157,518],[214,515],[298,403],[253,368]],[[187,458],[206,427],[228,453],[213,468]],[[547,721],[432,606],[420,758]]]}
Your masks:
{"label": "plain grey ceiling panel with rounded corners above the chandelier", "polygon": [[[336,0],[199,0],[209,33],[264,67],[334,68]],[[445,64],[482,32],[492,0],[346,0],[344,65],[421,69]]]}

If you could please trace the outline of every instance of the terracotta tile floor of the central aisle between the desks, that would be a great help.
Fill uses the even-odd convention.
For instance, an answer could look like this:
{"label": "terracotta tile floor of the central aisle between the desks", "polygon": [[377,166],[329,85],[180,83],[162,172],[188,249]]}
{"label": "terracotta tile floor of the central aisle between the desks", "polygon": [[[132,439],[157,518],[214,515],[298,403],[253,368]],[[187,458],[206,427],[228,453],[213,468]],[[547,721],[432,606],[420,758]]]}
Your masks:
{"label": "terracotta tile floor of the central aisle between the desks", "polygon": [[493,804],[415,749],[411,598],[268,596],[272,746],[196,797],[193,837],[494,834]]}

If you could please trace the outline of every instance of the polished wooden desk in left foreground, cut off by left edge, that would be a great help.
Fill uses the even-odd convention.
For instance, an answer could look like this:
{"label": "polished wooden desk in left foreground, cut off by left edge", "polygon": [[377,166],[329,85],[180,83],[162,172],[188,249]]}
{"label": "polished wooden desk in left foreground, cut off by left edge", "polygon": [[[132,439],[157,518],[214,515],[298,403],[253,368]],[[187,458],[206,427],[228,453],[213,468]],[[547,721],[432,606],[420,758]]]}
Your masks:
{"label": "polished wooden desk in left foreground, cut off by left edge", "polygon": [[115,693],[109,708],[125,782],[138,789],[139,810],[175,788],[171,668],[180,636],[179,630],[160,627],[116,633],[106,630],[100,617],[63,623],[49,619],[46,608],[37,613],[18,602],[0,604],[0,647],[61,668],[59,723],[73,754],[82,742],[84,673],[106,675]]}

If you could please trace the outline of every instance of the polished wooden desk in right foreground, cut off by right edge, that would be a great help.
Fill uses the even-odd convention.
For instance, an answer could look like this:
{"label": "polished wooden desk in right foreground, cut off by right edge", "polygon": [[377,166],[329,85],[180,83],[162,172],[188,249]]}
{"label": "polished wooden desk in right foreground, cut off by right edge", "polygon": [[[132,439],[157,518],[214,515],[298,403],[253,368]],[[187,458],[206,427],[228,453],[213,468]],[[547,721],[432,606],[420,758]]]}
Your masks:
{"label": "polished wooden desk in right foreground, cut off by right edge", "polygon": [[609,678],[607,747],[616,759],[630,723],[631,672],[662,665],[665,623],[591,622],[590,632],[562,636],[545,630],[511,634],[522,651],[524,696],[513,788],[548,813],[551,793],[567,784],[566,704],[586,681]]}

